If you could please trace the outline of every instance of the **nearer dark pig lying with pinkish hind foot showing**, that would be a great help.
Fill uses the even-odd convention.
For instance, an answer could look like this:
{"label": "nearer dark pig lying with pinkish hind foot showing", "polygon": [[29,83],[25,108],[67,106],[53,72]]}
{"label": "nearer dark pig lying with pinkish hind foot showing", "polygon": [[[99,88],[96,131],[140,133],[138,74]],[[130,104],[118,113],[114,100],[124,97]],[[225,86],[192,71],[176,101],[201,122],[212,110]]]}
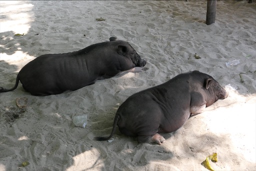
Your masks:
{"label": "nearer dark pig lying with pinkish hind foot showing", "polygon": [[161,144],[165,139],[160,132],[178,129],[190,116],[226,97],[226,91],[210,75],[182,73],[128,97],[116,112],[111,134],[95,139],[109,139],[118,125],[121,133],[136,136],[138,142]]}

